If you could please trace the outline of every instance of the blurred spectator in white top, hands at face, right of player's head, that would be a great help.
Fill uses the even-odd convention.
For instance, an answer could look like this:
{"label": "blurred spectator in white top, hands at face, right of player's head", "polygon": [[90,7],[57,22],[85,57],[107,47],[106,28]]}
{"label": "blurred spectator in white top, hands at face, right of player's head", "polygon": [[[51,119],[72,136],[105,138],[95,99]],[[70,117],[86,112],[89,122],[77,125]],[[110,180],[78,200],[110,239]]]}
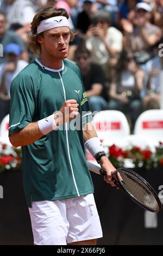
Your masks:
{"label": "blurred spectator in white top, hands at face, right of player's head", "polygon": [[122,51],[122,38],[118,29],[110,27],[110,18],[106,11],[98,10],[93,15],[86,47],[91,52],[92,62],[102,66],[107,80],[110,80]]}

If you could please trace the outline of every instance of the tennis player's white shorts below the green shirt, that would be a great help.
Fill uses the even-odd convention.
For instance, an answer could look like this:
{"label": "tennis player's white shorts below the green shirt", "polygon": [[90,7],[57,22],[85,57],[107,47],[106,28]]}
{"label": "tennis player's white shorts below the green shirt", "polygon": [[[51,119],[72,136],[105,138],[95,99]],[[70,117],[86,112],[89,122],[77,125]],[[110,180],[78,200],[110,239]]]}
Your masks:
{"label": "tennis player's white shorts below the green shirt", "polygon": [[93,194],[33,202],[29,214],[35,245],[66,245],[103,236]]}

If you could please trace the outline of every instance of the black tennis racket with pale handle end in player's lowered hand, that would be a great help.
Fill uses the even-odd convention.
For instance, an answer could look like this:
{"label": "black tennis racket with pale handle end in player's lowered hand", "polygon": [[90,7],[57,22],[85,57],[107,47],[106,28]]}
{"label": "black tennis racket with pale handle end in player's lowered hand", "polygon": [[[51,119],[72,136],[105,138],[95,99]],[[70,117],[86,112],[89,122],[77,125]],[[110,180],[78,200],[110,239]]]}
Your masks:
{"label": "black tennis racket with pale handle end in player's lowered hand", "polygon": [[[105,170],[95,163],[87,161],[87,166],[96,174],[106,175]],[[162,206],[158,195],[142,176],[128,168],[118,168],[112,174],[116,178],[112,179],[114,184],[122,188],[122,191],[139,206],[151,212],[161,210]]]}

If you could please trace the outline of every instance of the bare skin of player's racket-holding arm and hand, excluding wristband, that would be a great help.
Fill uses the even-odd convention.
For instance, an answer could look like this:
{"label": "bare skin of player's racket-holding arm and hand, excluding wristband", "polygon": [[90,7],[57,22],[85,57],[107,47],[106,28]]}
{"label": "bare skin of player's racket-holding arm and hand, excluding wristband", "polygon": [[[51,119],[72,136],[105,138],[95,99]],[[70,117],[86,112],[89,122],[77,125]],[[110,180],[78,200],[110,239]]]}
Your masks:
{"label": "bare skin of player's racket-holding arm and hand, excluding wristband", "polygon": [[[88,141],[91,138],[98,137],[97,133],[92,125],[91,122],[84,124],[83,126],[83,136],[84,136],[84,142]],[[103,156],[101,160],[99,160],[99,164],[101,165],[101,168],[105,170],[107,176],[104,176],[104,180],[111,184],[111,186],[116,186],[114,182],[111,181],[112,176],[111,172],[116,170],[114,166],[112,166],[111,162],[109,161],[108,157]]]}

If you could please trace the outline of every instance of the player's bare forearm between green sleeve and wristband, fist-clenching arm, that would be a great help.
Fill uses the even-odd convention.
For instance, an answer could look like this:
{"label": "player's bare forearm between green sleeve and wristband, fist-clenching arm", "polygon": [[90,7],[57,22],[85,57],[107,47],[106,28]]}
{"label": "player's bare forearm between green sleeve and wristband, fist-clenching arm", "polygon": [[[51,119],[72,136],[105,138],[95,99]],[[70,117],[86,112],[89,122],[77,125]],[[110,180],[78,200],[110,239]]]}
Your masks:
{"label": "player's bare forearm between green sleeve and wristband, fist-clenching arm", "polygon": [[38,122],[30,123],[19,132],[12,133],[9,139],[14,147],[29,145],[43,136],[39,129]]}

